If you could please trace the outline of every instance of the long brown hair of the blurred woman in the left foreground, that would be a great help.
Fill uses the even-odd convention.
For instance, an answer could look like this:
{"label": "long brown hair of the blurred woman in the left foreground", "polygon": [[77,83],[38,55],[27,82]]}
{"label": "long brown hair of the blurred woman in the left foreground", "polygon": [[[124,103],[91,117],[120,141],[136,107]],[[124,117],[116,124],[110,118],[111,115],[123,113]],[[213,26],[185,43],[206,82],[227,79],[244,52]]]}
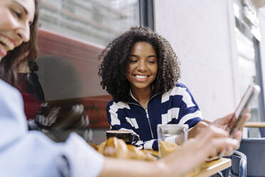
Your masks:
{"label": "long brown hair of the blurred woman in the left foreground", "polygon": [[[35,1],[35,14],[33,23],[30,26],[30,39],[24,42],[16,49],[9,51],[8,54],[0,62],[0,79],[3,79],[11,86],[17,86],[16,72],[19,65],[28,61],[28,66],[33,67],[34,60],[38,54],[37,35],[38,35],[38,0]],[[23,54],[28,52],[24,59],[20,59]]]}

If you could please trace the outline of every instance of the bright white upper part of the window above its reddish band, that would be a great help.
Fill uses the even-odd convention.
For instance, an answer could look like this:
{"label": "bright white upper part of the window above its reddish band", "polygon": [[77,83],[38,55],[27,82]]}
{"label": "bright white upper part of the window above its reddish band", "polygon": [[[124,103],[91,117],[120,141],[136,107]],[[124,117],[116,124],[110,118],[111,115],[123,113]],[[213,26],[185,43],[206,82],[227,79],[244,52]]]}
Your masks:
{"label": "bright white upper part of the window above its reddish band", "polygon": [[101,46],[140,25],[138,0],[43,0],[40,10],[43,29]]}

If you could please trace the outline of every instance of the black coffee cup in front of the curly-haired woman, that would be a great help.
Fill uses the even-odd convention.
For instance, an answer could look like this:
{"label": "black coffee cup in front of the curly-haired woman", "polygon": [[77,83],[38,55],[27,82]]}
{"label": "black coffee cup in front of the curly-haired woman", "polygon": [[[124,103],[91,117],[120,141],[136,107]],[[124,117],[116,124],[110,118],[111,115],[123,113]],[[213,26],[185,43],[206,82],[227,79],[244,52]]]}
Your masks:
{"label": "black coffee cup in front of the curly-haired woman", "polygon": [[140,140],[139,136],[130,130],[119,130],[119,131],[106,131],[107,139],[110,137],[116,137],[123,139],[127,144],[135,144]]}

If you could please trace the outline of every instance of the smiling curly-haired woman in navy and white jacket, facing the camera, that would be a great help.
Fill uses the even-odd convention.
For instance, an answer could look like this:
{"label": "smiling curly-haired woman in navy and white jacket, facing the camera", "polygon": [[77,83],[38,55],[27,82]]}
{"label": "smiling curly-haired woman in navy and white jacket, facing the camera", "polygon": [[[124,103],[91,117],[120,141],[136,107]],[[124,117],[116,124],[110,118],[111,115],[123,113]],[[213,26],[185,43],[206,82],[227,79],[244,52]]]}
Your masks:
{"label": "smiling curly-haired woman in navy and white jacket, facing the camera", "polygon": [[157,124],[202,120],[192,94],[180,79],[177,55],[170,43],[145,27],[132,27],[99,56],[101,86],[113,100],[107,115],[113,130],[133,130],[143,148],[158,149]]}

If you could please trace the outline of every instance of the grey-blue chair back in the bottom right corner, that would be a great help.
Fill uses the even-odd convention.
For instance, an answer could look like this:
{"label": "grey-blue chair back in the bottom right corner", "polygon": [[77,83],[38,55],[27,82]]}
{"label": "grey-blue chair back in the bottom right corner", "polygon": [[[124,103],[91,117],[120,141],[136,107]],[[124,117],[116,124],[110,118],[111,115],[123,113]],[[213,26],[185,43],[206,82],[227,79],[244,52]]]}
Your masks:
{"label": "grey-blue chair back in the bottom right corner", "polygon": [[243,138],[238,151],[247,157],[247,176],[265,176],[265,138]]}

